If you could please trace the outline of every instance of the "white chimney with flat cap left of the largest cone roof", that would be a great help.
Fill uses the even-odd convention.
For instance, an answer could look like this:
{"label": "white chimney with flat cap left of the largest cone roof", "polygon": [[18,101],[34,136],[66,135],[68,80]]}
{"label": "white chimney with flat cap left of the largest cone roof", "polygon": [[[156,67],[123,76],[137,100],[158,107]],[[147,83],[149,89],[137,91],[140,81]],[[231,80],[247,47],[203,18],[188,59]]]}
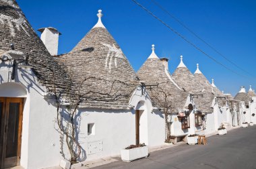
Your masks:
{"label": "white chimney with flat cap left of the largest cone roof", "polygon": [[61,35],[61,32],[59,32],[54,27],[42,27],[38,31],[42,33],[41,40],[49,53],[52,56],[57,55],[59,36]]}

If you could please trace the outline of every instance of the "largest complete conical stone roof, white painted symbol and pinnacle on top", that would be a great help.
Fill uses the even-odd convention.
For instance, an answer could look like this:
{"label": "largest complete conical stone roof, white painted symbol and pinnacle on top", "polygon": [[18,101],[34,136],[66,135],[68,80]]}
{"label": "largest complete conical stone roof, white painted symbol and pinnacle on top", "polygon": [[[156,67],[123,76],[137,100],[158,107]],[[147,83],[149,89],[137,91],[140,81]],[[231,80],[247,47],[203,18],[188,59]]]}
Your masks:
{"label": "largest complete conical stone roof, white painted symbol and pinnacle on top", "polygon": [[135,89],[134,84],[139,84],[137,75],[113,36],[102,24],[101,10],[98,17],[98,23],[75,48],[57,60],[67,66],[76,88],[85,78],[91,78],[82,85],[81,93],[84,93],[84,97],[81,107],[127,108]]}

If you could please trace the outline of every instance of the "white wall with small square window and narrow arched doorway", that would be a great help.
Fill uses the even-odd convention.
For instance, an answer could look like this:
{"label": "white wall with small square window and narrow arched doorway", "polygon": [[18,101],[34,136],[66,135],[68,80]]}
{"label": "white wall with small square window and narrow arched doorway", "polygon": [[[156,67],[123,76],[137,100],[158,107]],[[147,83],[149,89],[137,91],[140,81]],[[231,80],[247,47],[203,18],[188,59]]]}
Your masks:
{"label": "white wall with small square window and narrow arched doorway", "polygon": [[[164,115],[158,110],[152,111],[150,99],[141,96],[141,91],[135,90],[130,105],[134,107],[131,110],[79,110],[82,117],[80,137],[85,138],[84,141],[81,139],[81,143],[86,150],[86,160],[117,156],[121,149],[135,144],[135,110],[143,112],[140,117],[143,125],[139,131],[140,142],[149,147],[164,143]],[[94,123],[95,135],[87,135],[88,123]],[[90,153],[90,146],[98,151]]]}

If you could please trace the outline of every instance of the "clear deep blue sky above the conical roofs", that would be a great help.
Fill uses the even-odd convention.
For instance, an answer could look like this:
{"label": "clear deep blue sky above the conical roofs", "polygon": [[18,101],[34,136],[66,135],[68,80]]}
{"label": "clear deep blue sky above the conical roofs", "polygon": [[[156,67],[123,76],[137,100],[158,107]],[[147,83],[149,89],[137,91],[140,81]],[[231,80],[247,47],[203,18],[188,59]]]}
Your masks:
{"label": "clear deep blue sky above the conical roofs", "polygon": [[102,9],[102,22],[135,71],[150,56],[151,45],[155,44],[156,54],[170,59],[171,73],[177,68],[180,55],[183,55],[183,61],[191,72],[195,71],[199,63],[201,72],[208,80],[214,78],[216,86],[225,93],[234,96],[241,86],[248,90],[249,84],[256,89],[256,1],[155,0],[195,34],[253,76],[227,62],[151,0],[137,1],[201,50],[243,76],[207,58],[131,0],[17,1],[34,30],[51,26],[62,33],[59,54],[69,52],[86,35],[98,21],[98,9]]}

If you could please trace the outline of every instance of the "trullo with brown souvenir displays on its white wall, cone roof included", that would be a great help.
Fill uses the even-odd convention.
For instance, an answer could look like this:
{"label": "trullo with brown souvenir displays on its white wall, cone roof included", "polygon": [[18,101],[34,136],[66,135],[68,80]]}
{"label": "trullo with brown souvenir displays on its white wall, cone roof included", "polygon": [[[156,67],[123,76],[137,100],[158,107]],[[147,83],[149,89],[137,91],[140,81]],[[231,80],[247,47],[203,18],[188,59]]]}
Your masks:
{"label": "trullo with brown souvenir displays on its white wall, cone roof included", "polygon": [[[201,112],[195,109],[193,96],[184,91],[172,78],[168,71],[168,59],[158,58],[154,50],[154,45],[152,45],[152,54],[139,68],[137,74],[146,84],[158,84],[158,87],[150,87],[152,90],[148,90],[151,96],[157,95],[157,97],[152,97],[152,101],[162,110],[164,109],[163,103],[168,102],[171,106],[168,112],[171,118],[168,124],[170,135],[178,142],[186,141],[188,135],[193,135],[202,129]],[[163,93],[168,97],[162,96]]]}

